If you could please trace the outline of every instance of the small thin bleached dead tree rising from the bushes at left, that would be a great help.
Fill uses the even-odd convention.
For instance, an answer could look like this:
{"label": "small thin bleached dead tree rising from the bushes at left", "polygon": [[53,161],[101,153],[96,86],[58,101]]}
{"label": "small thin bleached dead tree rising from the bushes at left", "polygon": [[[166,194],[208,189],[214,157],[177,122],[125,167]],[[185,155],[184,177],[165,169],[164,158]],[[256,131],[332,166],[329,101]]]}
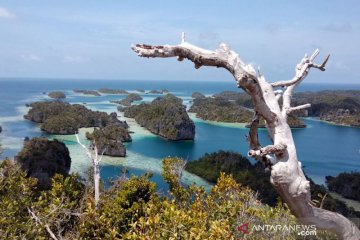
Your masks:
{"label": "small thin bleached dead tree rising from the bushes at left", "polygon": [[100,199],[100,162],[102,160],[105,150],[99,156],[95,141],[93,141],[89,147],[86,147],[84,144],[80,142],[79,136],[77,134],[75,134],[75,136],[80,146],[85,149],[86,155],[91,160],[91,163],[93,165],[95,206],[97,207]]}

